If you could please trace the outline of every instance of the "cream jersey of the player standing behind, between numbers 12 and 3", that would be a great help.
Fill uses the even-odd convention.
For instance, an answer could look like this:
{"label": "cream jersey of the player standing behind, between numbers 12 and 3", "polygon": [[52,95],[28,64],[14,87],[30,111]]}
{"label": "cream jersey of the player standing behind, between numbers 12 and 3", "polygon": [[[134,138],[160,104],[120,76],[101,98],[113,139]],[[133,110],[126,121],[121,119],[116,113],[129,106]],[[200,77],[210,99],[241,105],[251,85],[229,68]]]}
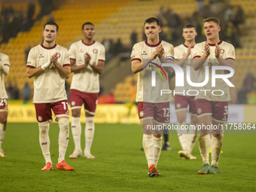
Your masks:
{"label": "cream jersey of the player standing behind, between numbers 12 and 3", "polygon": [[[181,59],[187,53],[187,48],[188,47],[185,44],[180,44],[177,47],[174,47],[175,60],[178,61]],[[184,61],[184,66],[182,66],[184,72],[184,87],[175,87],[175,95],[187,96],[187,90],[195,90],[195,87],[192,87],[187,83],[187,66],[190,66],[190,80],[192,82],[197,82],[197,71],[194,70],[192,61],[194,47],[191,47],[190,50],[190,55]],[[176,78],[175,81],[178,81],[178,78]]]}

